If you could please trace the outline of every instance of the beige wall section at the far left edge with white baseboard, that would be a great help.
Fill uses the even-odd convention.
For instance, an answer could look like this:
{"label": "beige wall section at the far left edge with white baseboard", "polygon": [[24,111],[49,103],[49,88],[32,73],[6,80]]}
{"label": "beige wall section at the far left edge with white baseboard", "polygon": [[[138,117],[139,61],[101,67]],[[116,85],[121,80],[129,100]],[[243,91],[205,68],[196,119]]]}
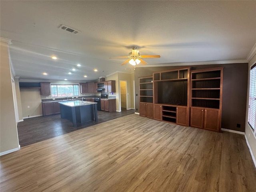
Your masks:
{"label": "beige wall section at the far left edge with white baseboard", "polygon": [[0,41],[0,152],[19,147],[7,42]]}

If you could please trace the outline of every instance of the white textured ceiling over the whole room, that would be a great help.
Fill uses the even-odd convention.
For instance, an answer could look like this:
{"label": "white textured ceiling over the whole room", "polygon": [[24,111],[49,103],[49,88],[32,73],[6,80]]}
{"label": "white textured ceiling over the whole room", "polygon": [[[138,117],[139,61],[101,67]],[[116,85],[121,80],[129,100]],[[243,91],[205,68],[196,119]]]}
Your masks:
{"label": "white textured ceiling over the whole room", "polygon": [[[12,40],[12,65],[22,79],[92,81],[131,73],[130,64],[120,66],[126,59],[109,59],[128,56],[131,46],[160,54],[145,59],[155,66],[245,60],[256,44],[256,1],[1,0],[0,9],[0,36]],[[78,70],[68,75],[73,67]]]}

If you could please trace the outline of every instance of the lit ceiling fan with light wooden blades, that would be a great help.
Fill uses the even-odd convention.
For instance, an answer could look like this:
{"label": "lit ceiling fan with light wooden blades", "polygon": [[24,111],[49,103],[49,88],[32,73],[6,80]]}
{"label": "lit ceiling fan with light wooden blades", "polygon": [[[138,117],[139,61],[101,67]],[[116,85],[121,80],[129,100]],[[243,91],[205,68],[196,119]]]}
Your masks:
{"label": "lit ceiling fan with light wooden blades", "polygon": [[160,55],[140,55],[139,50],[136,50],[136,49],[137,49],[137,47],[132,46],[132,52],[130,52],[128,56],[110,57],[110,59],[113,59],[113,58],[128,58],[121,65],[124,65],[124,64],[129,62],[131,65],[135,66],[135,65],[138,65],[140,63],[142,65],[147,64],[147,62],[142,60],[141,58],[160,58]]}

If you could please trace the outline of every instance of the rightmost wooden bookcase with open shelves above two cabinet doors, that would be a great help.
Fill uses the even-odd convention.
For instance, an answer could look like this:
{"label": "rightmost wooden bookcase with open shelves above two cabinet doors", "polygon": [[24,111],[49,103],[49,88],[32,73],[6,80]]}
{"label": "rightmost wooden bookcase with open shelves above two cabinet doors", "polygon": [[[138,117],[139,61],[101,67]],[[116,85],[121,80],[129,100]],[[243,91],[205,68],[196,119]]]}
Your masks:
{"label": "rightmost wooden bookcase with open shelves above two cabinet doors", "polygon": [[223,68],[191,72],[190,126],[220,131]]}

